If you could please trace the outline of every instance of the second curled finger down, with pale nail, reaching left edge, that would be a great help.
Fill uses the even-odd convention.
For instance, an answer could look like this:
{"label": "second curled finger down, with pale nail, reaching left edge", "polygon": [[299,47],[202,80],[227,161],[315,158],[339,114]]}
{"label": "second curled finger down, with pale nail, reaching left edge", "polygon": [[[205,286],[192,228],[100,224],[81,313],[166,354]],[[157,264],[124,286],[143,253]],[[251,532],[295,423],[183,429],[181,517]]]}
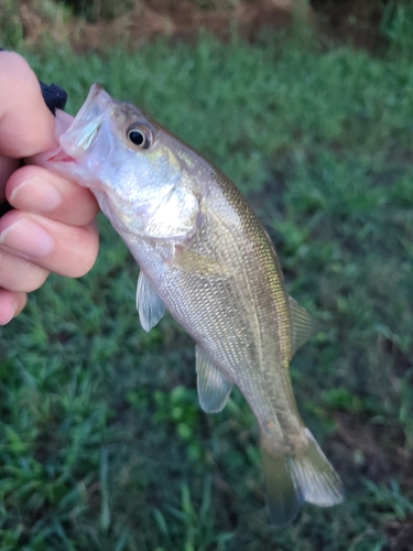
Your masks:
{"label": "second curled finger down, with pale nail, reaching left edge", "polygon": [[79,278],[94,266],[99,239],[95,223],[68,226],[11,210],[0,218],[0,246],[41,268]]}

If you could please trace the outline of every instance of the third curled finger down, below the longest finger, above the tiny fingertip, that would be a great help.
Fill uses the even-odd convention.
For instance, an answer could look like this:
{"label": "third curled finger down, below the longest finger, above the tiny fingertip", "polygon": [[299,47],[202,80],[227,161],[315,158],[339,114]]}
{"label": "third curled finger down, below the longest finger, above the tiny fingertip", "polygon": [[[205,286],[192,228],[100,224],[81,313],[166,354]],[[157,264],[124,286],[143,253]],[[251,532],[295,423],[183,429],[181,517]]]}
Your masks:
{"label": "third curled finger down, below the longest finger, above the tiny fingertip", "polygon": [[0,247],[0,288],[30,293],[46,281],[48,271]]}

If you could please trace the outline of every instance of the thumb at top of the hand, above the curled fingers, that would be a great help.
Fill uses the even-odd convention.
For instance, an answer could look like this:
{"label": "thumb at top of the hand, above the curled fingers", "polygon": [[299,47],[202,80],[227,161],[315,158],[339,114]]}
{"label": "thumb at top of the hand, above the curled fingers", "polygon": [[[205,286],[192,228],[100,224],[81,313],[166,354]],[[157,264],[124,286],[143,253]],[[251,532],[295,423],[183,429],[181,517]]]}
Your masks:
{"label": "thumb at top of the hand, above the curled fingers", "polygon": [[54,149],[55,120],[28,62],[0,52],[0,150],[13,158]]}

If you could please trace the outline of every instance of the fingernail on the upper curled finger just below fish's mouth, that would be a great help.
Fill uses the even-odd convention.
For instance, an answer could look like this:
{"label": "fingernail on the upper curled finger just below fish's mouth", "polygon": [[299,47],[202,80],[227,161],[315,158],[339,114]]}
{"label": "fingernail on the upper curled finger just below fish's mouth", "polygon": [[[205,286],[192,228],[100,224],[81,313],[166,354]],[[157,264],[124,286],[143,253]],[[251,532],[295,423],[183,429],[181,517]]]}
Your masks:
{"label": "fingernail on the upper curled finger just below fish's mouth", "polygon": [[48,213],[62,203],[62,195],[50,182],[34,176],[14,187],[10,194],[10,203],[13,205],[14,202],[20,209]]}

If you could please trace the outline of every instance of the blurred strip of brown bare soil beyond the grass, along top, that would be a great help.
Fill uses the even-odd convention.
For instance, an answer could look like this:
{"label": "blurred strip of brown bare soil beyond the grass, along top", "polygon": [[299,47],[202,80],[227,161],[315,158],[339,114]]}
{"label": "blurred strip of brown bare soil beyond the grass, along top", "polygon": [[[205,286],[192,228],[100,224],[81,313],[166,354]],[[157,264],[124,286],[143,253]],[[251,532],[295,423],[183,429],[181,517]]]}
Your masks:
{"label": "blurred strip of brown bare soil beyond the grass, along top", "polygon": [[[73,3],[79,11],[83,4]],[[243,39],[253,41],[260,30],[287,28],[294,19],[358,47],[376,50],[383,44],[380,22],[384,6],[380,1],[314,0],[308,6],[304,0],[130,0],[121,9],[113,3],[111,10],[109,0],[90,4],[96,7],[89,18],[67,18],[65,3],[46,10],[42,0],[19,0],[12,18],[21,25],[28,45],[36,45],[46,34],[53,41],[69,42],[76,52],[119,44],[134,50],[160,35],[193,41],[202,29],[221,40],[237,29]]]}

